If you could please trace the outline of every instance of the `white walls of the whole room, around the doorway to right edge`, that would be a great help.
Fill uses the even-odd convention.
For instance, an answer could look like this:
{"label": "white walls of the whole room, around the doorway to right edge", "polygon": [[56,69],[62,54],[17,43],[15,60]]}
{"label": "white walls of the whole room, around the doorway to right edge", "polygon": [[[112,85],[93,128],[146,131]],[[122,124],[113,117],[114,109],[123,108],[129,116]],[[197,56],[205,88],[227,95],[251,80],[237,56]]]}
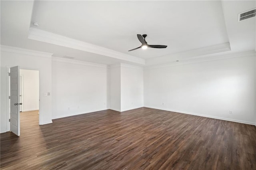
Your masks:
{"label": "white walls of the whole room, around the doorway to right edge", "polygon": [[[148,67],[143,71],[142,67],[123,63],[107,68],[4,46],[0,65],[1,132],[9,131],[7,72],[16,65],[39,71],[40,124],[108,108],[125,111],[143,106],[241,123],[255,124],[256,121],[255,54]],[[47,92],[50,96],[43,96]]]}

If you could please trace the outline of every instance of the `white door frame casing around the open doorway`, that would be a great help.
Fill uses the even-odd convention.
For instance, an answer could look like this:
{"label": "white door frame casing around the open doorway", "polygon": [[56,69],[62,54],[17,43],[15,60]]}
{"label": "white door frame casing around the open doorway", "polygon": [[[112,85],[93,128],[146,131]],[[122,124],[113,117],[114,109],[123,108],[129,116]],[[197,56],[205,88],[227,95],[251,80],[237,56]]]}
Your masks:
{"label": "white door frame casing around the open doorway", "polygon": [[[19,65],[20,66],[20,65]],[[9,99],[9,96],[10,96],[10,76],[8,75],[8,73],[10,73],[10,67],[13,67],[13,66],[6,66],[6,97],[7,97],[7,102],[6,102],[6,132],[9,132],[10,131],[10,122],[9,122],[9,119],[10,119],[10,99]],[[38,125],[41,125],[42,124],[42,115],[40,114],[40,106],[41,106],[41,101],[40,101],[40,94],[41,94],[41,91],[40,91],[40,69],[38,68],[32,68],[32,67],[22,67],[20,66],[20,69],[26,69],[26,70],[36,70],[38,71],[39,73],[39,113],[38,113]]]}

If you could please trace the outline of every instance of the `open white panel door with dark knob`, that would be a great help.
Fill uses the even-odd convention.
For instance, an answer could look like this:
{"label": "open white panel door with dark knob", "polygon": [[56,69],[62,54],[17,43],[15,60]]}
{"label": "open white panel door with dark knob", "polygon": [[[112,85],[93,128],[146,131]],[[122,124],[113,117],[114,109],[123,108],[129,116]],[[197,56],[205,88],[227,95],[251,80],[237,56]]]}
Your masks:
{"label": "open white panel door with dark knob", "polygon": [[20,68],[10,68],[10,131],[20,136]]}

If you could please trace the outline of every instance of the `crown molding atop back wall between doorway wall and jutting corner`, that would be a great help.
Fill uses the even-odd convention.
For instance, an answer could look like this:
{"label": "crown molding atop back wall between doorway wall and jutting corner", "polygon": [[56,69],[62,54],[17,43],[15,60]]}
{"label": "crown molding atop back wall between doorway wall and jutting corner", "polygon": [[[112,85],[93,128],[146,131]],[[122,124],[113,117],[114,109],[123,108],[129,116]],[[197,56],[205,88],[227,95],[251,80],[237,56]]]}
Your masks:
{"label": "crown molding atop back wall between doorway wall and jutting corner", "polygon": [[90,62],[86,62],[86,61],[80,61],[80,60],[75,60],[75,59],[67,59],[67,58],[61,58],[61,57],[52,57],[52,61],[62,62],[62,63],[78,64],[78,65],[86,65],[86,66],[91,66],[91,67],[107,68],[107,65],[105,65],[105,64],[90,63]]}

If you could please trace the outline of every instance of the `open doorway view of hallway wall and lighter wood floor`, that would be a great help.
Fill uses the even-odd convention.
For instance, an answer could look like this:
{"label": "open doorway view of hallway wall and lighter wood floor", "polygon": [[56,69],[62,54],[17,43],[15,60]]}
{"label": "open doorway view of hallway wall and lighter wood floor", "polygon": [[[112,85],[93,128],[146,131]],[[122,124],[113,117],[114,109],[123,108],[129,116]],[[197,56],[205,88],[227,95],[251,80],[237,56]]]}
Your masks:
{"label": "open doorway view of hallway wall and lighter wood floor", "polygon": [[39,71],[20,69],[20,132],[39,127]]}

